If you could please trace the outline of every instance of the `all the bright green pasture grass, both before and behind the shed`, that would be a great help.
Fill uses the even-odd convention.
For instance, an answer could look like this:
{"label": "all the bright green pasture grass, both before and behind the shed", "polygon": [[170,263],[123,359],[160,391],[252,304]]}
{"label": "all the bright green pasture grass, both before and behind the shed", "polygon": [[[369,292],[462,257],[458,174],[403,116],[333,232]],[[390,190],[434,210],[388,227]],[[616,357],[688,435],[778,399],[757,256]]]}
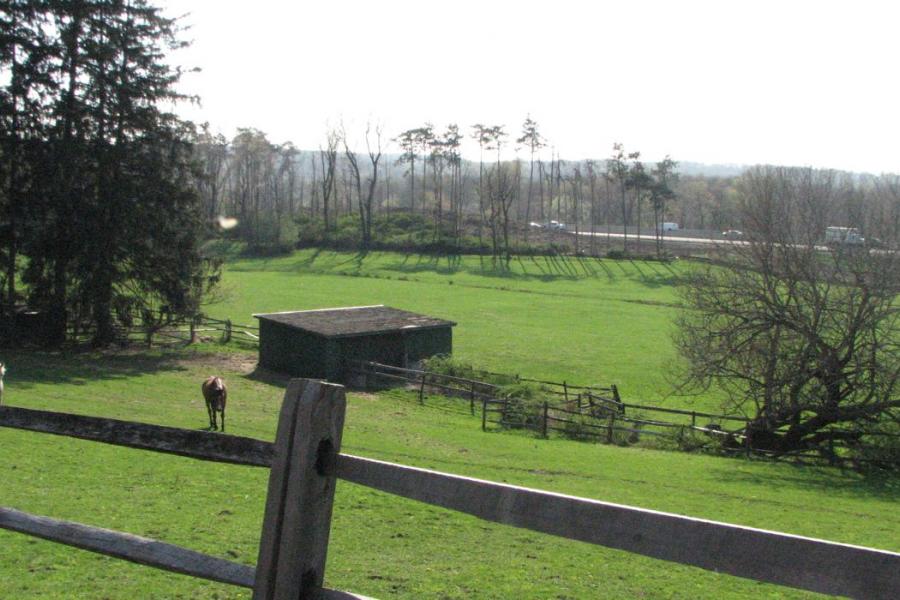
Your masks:
{"label": "all the bright green pasture grass, both before and behind the shed", "polygon": [[[228,299],[210,312],[247,322],[252,312],[383,302],[457,320],[455,353],[488,368],[614,381],[626,398],[668,394],[660,371],[672,360],[670,282],[681,267],[543,258],[513,267],[494,273],[477,259],[377,255],[360,262],[312,252],[239,260],[225,274]],[[610,337],[620,343],[605,343]],[[207,420],[200,382],[218,373],[229,385],[229,433],[266,440],[274,437],[285,387],[283,379],[255,371],[252,354],[215,344],[118,354],[15,352],[0,360],[10,364],[5,403],[195,429]],[[438,399],[423,407],[402,391],[350,394],[344,451],[900,551],[897,479],[482,433],[479,425]],[[256,560],[264,469],[3,428],[0,449],[0,505],[245,564]],[[338,485],[331,539],[326,584],[381,598],[812,596],[493,525],[347,483]],[[0,598],[246,597],[239,588],[0,532]]]}

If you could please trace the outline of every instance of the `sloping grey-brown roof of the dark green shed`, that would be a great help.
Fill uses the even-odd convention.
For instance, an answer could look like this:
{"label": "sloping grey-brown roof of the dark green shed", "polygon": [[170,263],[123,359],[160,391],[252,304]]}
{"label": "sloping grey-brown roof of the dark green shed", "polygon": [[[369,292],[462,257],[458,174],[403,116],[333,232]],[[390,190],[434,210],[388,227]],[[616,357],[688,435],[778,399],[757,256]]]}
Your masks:
{"label": "sloping grey-brown roof of the dark green shed", "polygon": [[274,321],[329,338],[373,335],[437,327],[453,327],[453,321],[426,315],[376,306],[348,306],[253,315],[257,319]]}

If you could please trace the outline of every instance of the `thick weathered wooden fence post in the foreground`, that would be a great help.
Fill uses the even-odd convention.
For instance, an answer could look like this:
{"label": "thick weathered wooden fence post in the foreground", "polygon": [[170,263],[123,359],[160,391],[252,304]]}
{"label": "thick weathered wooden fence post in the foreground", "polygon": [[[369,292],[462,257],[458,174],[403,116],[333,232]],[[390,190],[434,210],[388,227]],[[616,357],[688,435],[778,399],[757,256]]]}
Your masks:
{"label": "thick weathered wooden fence post in the foreground", "polygon": [[346,400],[339,385],[293,379],[278,418],[254,600],[312,598],[322,587]]}

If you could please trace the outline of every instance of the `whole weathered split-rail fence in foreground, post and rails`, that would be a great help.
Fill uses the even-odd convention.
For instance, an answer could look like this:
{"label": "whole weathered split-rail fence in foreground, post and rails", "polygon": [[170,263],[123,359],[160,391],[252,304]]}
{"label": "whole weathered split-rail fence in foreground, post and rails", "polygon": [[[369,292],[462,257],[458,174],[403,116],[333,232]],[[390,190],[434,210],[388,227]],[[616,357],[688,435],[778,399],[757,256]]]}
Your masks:
{"label": "whole weathered split-rail fence in foreground, post and rails", "polygon": [[[0,426],[270,469],[256,567],[0,508],[0,528],[253,589],[255,599],[360,598],[324,589],[338,478],[481,519],[827,594],[895,598],[900,554],[341,454],[341,386],[292,380],[274,443],[0,406]],[[760,559],[764,557],[764,559]]]}

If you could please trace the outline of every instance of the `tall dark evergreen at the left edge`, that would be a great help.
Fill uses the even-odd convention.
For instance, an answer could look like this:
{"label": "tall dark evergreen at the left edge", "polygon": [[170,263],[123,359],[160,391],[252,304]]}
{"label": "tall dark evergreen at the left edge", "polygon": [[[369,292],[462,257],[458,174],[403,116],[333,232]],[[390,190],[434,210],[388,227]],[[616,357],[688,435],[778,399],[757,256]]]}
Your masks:
{"label": "tall dark evergreen at the left edge", "polygon": [[[9,4],[32,26],[18,29],[2,67],[42,65],[40,89],[23,96],[11,82],[4,104],[40,123],[28,133],[28,201],[8,200],[30,224],[17,249],[29,302],[52,317],[48,338],[61,341],[74,322],[104,345],[116,315],[196,311],[212,279],[198,250],[193,131],[162,108],[184,99],[180,71],[163,60],[183,46],[177,24],[145,0]],[[24,172],[7,152],[3,163]]]}

